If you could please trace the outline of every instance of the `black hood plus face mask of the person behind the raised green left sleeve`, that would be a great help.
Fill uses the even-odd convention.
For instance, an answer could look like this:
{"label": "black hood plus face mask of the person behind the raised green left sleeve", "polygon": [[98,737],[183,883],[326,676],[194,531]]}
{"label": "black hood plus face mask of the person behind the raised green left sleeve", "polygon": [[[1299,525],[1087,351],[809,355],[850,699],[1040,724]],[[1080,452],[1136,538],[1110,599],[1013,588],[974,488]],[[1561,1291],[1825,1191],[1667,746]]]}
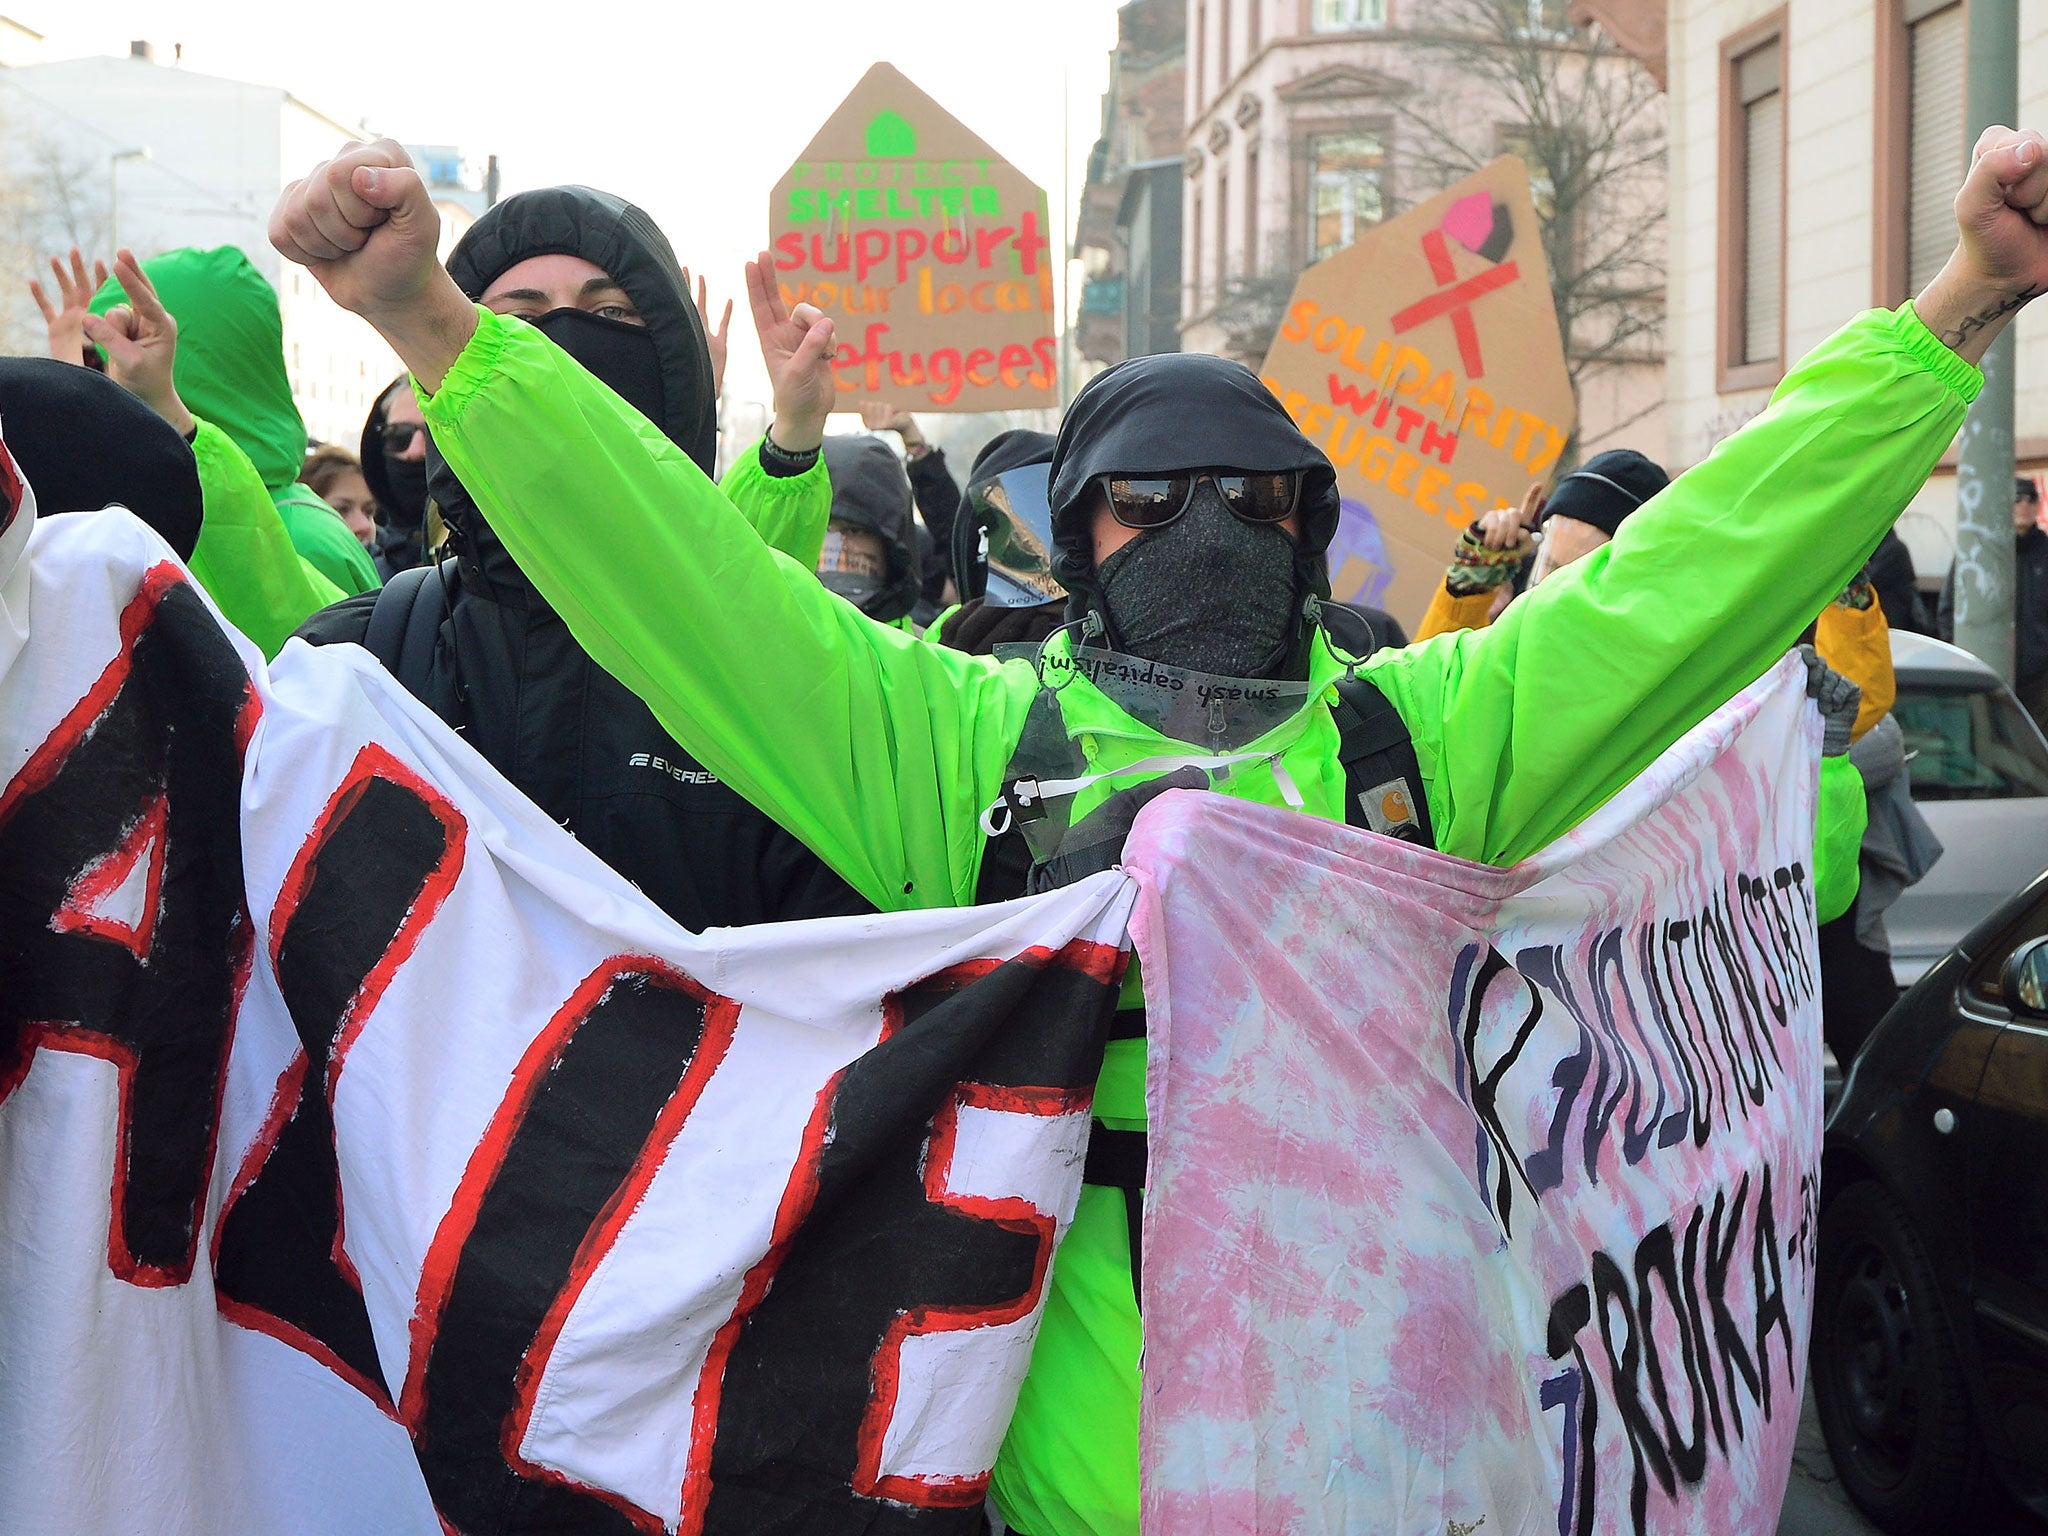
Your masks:
{"label": "black hood plus face mask of the person behind the raised green left sleeve", "polygon": [[[477,219],[449,254],[449,276],[471,299],[528,256],[582,256],[602,268],[639,309],[645,326],[580,309],[532,322],[621,399],[662,428],[707,475],[717,467],[719,397],[711,379],[705,322],[682,281],[668,238],[623,197],[590,186],[518,193]],[[500,600],[545,608],[545,600],[498,543],[446,461],[426,446],[428,489],[465,565]]]}

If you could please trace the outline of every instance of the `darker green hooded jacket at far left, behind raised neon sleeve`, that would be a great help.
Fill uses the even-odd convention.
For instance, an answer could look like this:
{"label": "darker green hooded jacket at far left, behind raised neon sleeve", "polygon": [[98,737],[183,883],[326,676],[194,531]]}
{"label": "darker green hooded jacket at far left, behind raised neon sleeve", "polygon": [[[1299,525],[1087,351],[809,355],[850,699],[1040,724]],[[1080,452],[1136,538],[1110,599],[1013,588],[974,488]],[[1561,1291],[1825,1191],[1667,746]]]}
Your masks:
{"label": "darker green hooded jacket at far left, behind raised neon sleeve", "polygon": [[[377,565],[369,551],[334,508],[297,483],[305,463],[305,422],[285,373],[276,291],[233,246],[172,250],[143,262],[143,272],[178,322],[172,381],[186,410],[221,428],[256,465],[299,555],[344,596],[375,588]],[[127,295],[113,281],[92,295],[96,313],[117,303],[127,303]],[[309,612],[285,623],[285,631]],[[276,623],[285,618],[276,614]],[[244,627],[244,633],[252,631]]]}

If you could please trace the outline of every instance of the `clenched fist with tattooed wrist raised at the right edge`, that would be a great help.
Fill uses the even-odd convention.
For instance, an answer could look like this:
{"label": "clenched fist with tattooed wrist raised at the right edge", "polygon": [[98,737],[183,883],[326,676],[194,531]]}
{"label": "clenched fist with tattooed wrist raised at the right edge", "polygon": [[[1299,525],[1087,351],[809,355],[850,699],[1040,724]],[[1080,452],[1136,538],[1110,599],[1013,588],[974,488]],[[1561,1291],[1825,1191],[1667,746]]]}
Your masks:
{"label": "clenched fist with tattooed wrist raised at the right edge", "polygon": [[1956,193],[1960,240],[1913,301],[1935,336],[1978,362],[2032,299],[2048,293],[2048,139],[1989,127]]}

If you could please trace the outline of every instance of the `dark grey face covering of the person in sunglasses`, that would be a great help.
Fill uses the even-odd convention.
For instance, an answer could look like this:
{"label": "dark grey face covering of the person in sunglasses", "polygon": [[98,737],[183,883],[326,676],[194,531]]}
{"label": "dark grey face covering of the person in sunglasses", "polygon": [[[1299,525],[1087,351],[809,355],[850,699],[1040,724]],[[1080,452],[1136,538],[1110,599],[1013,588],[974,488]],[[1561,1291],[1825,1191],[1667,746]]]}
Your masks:
{"label": "dark grey face covering of the person in sunglasses", "polygon": [[1192,506],[1096,571],[1130,655],[1251,678],[1294,623],[1294,539],[1233,516],[1206,479]]}

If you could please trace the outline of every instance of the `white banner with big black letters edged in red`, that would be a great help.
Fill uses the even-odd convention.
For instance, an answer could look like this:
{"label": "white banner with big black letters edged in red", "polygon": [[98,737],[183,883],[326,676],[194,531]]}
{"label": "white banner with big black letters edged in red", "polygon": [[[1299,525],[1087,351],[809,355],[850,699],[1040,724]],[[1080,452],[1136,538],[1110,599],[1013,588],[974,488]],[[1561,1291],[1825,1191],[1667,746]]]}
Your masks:
{"label": "white banner with big black letters edged in red", "polygon": [[979,1532],[1130,883],[692,938],[14,500],[0,1530]]}

